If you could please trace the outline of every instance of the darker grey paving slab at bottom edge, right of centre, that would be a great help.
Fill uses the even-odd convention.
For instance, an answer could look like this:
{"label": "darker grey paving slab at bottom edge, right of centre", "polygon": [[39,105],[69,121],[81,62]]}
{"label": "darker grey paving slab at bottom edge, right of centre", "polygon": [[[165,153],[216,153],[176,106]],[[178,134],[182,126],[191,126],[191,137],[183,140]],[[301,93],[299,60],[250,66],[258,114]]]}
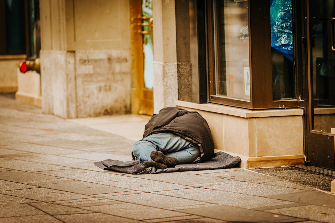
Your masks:
{"label": "darker grey paving slab at bottom edge, right of centre", "polygon": [[264,213],[250,209],[230,207],[230,206],[215,206],[208,208],[196,208],[188,210],[180,210],[183,213],[189,213],[214,219],[224,220],[228,222],[299,222],[304,219],[297,219],[283,215]]}

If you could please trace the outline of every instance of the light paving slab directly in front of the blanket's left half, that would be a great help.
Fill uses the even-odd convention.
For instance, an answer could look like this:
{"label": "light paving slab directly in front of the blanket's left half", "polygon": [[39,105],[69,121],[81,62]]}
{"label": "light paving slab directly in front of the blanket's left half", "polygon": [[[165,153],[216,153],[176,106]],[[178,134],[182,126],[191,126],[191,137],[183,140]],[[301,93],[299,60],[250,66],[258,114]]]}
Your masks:
{"label": "light paving slab directly in front of the blanket's left half", "polygon": [[115,187],[128,188],[131,190],[138,190],[144,192],[155,192],[165,190],[177,190],[189,188],[188,186],[165,183],[160,181],[152,181],[135,177],[119,176],[113,174],[113,180],[110,181],[97,181],[95,183],[111,185]]}

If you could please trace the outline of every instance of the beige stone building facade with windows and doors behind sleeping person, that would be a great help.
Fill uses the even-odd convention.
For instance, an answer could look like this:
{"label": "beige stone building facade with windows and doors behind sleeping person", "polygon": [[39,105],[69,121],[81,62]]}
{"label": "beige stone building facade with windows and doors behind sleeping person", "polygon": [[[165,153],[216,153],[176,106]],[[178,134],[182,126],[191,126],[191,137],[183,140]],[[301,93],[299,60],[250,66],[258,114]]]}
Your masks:
{"label": "beige stone building facade with windows and doors behind sleeping person", "polygon": [[280,29],[275,0],[40,0],[42,110],[82,118],[179,106],[198,111],[216,150],[244,168],[334,170],[333,52],[313,27],[330,30],[312,16],[315,1],[288,2]]}

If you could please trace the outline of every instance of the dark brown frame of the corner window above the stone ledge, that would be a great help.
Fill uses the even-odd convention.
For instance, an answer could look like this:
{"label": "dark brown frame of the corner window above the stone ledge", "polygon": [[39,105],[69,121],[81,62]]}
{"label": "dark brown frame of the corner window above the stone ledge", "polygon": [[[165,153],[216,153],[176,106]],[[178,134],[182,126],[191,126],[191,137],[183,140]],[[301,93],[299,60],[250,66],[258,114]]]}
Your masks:
{"label": "dark brown frame of the corner window above the stone ledge", "polygon": [[[215,95],[215,60],[214,60],[214,23],[213,1],[206,2],[207,18],[207,78],[208,103],[222,104],[247,109],[297,108],[303,107],[301,67],[294,66],[295,72],[295,98],[292,100],[277,100],[272,98],[272,62],[271,62],[271,36],[270,36],[270,0],[248,1],[249,10],[249,61],[250,61],[250,101]],[[294,18],[299,18],[299,10],[294,11],[295,0],[292,0]],[[301,12],[300,12],[301,13]],[[301,21],[298,21],[301,22]],[[293,19],[295,64],[301,64],[301,46],[303,45],[301,31]]]}

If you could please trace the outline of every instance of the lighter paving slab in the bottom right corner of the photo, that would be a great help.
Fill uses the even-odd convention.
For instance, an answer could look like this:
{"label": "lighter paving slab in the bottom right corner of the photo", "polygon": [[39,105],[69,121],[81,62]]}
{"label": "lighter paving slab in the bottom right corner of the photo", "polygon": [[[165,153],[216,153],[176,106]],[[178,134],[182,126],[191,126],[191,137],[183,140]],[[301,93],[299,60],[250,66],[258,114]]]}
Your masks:
{"label": "lighter paving slab in the bottom right corner of the photo", "polygon": [[268,210],[267,212],[273,214],[294,216],[296,218],[305,218],[312,221],[322,221],[329,223],[335,222],[335,209],[325,206],[322,207],[317,205],[306,205],[306,206]]}

